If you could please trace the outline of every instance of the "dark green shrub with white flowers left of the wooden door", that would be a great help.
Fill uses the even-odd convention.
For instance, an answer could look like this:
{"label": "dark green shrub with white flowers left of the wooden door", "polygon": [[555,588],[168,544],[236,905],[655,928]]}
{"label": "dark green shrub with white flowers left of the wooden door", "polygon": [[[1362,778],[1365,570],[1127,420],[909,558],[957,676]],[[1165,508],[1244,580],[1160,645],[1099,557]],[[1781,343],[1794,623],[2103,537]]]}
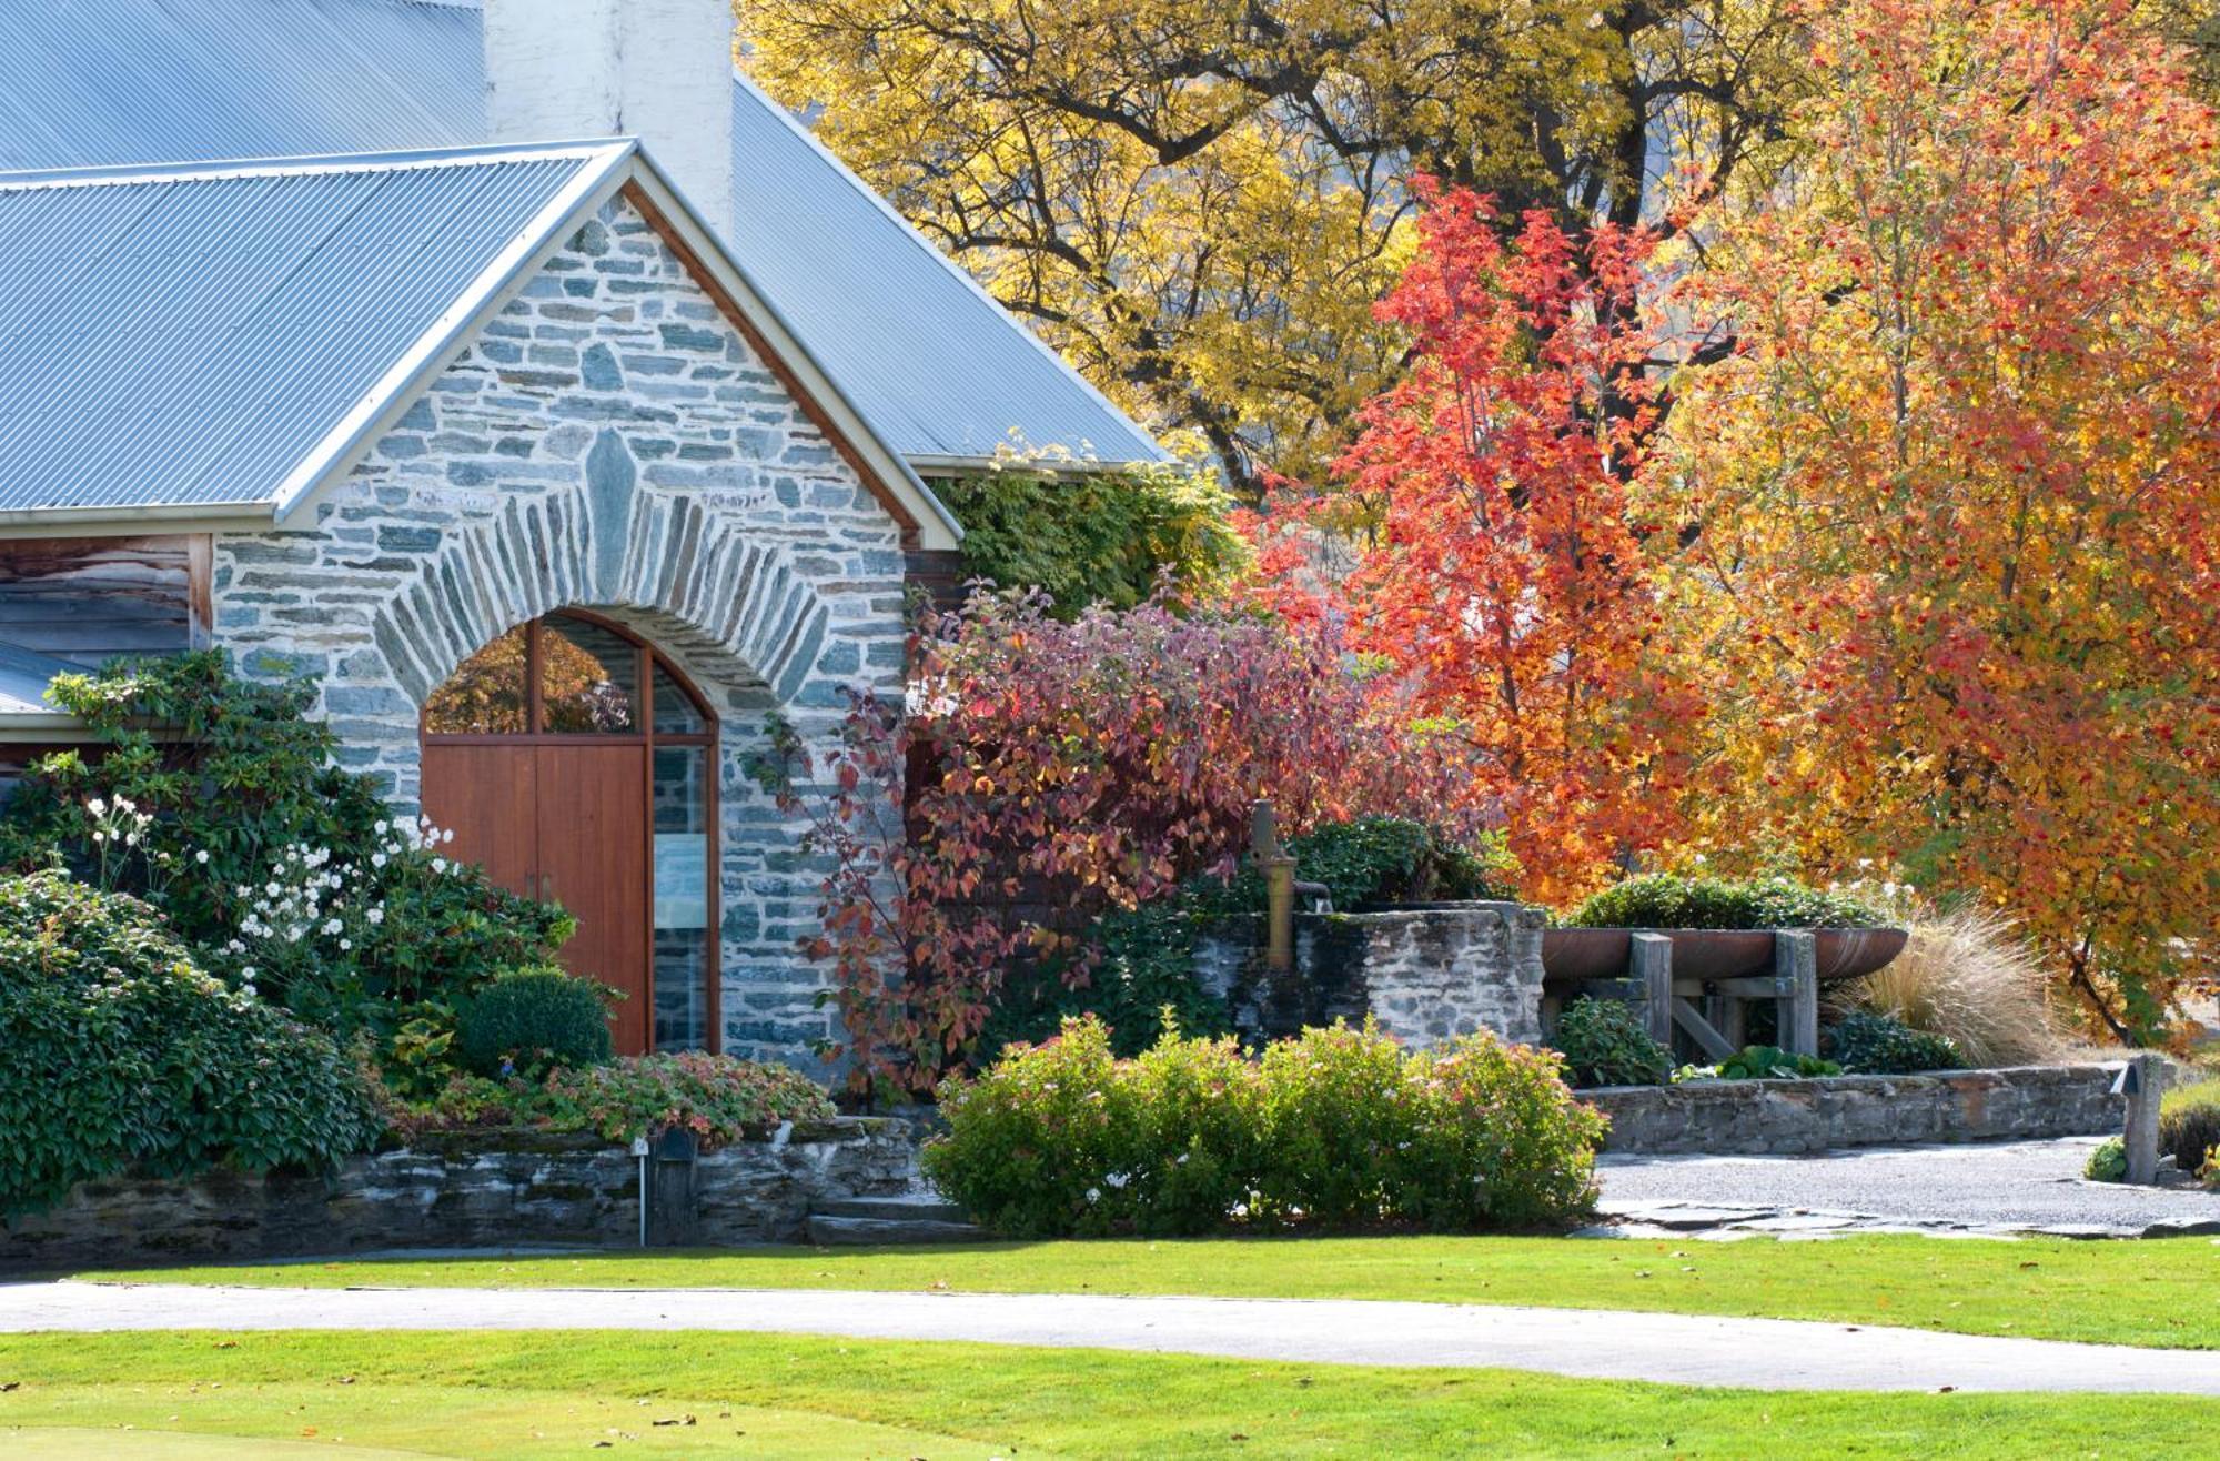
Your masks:
{"label": "dark green shrub with white flowers left of the wooden door", "polygon": [[451,862],[444,837],[337,766],[309,682],[240,679],[198,653],[62,675],[53,699],[104,753],[33,764],[0,815],[0,866],[58,864],[142,897],[202,968],[342,1037],[369,1032],[382,1064],[402,1026],[437,1017],[426,1006],[571,937],[562,908]]}

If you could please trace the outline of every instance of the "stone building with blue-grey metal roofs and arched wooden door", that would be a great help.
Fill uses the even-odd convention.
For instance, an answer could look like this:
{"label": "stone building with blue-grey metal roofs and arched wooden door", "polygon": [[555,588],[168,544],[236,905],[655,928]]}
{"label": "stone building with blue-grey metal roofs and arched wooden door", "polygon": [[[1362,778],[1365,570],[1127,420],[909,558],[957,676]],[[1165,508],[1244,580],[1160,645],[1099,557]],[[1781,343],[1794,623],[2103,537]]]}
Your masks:
{"label": "stone building with blue-grey metal roofs and arched wooden door", "polygon": [[733,73],[726,0],[49,7],[0,169],[13,755],[113,653],[309,675],[579,915],[622,1048],[806,1059],[766,717],[899,693],[932,477],[1154,442]]}

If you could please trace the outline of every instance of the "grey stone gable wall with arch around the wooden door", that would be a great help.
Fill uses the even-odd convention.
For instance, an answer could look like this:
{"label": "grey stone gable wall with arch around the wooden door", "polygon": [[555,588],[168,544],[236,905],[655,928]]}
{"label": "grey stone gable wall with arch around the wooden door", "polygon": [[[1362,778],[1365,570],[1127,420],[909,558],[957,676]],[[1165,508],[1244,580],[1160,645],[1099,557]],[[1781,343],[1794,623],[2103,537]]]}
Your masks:
{"label": "grey stone gable wall with arch around the wooden door", "polygon": [[897,520],[622,198],[526,284],[317,508],[215,540],[215,639],[313,675],[344,759],[417,797],[417,708],[471,653],[584,606],[668,653],[722,722],[724,1035],[810,1064],[817,870],[744,770],[770,711],[830,742],[899,693]]}

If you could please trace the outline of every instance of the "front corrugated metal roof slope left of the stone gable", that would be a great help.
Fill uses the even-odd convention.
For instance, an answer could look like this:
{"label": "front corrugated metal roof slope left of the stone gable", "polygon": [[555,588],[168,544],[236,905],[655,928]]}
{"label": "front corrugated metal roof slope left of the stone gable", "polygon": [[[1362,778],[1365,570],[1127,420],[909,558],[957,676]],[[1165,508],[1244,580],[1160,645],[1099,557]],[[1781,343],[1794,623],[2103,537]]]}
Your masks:
{"label": "front corrugated metal roof slope left of the stone gable", "polygon": [[630,153],[0,175],[0,511],[286,497]]}

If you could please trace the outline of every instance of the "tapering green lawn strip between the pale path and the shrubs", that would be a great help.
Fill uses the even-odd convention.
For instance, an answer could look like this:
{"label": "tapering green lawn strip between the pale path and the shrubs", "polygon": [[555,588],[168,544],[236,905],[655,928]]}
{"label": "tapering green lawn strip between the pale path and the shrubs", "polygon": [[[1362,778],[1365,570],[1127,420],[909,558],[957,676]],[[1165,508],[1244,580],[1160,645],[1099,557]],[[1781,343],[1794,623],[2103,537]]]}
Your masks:
{"label": "tapering green lawn strip between the pale path and the shrubs", "polygon": [[2213,1301],[2220,1241],[2213,1239],[1194,1239],[282,1263],[98,1277],[329,1288],[948,1288],[1423,1299],[2220,1348],[2220,1303]]}

